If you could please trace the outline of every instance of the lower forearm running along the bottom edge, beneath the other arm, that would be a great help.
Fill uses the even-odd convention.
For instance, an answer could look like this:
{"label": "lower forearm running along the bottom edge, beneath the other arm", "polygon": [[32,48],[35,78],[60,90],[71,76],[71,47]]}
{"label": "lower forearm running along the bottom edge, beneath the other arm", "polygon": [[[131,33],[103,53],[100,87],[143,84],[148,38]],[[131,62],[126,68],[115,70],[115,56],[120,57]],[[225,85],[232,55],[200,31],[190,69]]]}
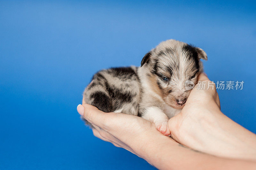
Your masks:
{"label": "lower forearm running along the bottom edge, beneath the other arm", "polygon": [[255,162],[220,158],[191,150],[162,134],[145,139],[138,152],[140,157],[158,169],[253,169],[256,166]]}

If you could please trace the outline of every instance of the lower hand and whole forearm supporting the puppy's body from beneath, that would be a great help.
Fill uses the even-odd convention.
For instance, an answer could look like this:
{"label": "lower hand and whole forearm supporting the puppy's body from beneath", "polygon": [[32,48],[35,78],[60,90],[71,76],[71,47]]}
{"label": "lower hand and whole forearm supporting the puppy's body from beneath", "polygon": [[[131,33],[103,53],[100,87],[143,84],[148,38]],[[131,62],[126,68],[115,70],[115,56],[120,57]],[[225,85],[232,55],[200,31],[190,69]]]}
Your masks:
{"label": "lower hand and whole forearm supporting the puppy's body from beneath", "polygon": [[138,155],[158,169],[198,169],[199,165],[202,169],[252,169],[255,166],[252,162],[218,158],[182,147],[159,132],[153,123],[137,116],[105,113],[89,104],[79,104],[77,111],[92,124],[96,137]]}

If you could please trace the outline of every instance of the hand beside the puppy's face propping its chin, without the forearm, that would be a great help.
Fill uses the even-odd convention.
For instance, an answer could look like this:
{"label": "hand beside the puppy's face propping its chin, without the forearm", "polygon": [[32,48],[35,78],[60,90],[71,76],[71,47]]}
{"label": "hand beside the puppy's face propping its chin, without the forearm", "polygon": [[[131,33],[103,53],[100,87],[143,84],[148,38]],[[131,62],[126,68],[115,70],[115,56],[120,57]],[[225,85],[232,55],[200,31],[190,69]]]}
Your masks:
{"label": "hand beside the puppy's face propping its chin, without the forearm", "polygon": [[210,134],[205,132],[207,129],[204,129],[205,126],[202,123],[214,124],[215,122],[212,120],[215,120],[216,114],[222,113],[220,112],[220,99],[215,84],[204,73],[199,74],[198,82],[191,90],[186,105],[180,114],[172,117],[168,126],[173,139],[190,148],[202,151],[203,148],[200,148],[201,138],[211,139],[211,137],[206,136]]}

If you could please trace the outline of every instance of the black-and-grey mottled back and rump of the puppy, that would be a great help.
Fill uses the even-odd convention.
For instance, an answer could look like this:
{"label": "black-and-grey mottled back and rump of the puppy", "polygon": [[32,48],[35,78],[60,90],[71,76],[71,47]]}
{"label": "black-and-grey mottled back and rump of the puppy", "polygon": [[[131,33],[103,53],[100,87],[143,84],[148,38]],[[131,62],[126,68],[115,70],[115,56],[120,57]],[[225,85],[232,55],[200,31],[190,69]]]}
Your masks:
{"label": "black-and-grey mottled back and rump of the puppy", "polygon": [[140,80],[137,67],[118,67],[94,74],[84,90],[84,102],[103,112],[137,115]]}

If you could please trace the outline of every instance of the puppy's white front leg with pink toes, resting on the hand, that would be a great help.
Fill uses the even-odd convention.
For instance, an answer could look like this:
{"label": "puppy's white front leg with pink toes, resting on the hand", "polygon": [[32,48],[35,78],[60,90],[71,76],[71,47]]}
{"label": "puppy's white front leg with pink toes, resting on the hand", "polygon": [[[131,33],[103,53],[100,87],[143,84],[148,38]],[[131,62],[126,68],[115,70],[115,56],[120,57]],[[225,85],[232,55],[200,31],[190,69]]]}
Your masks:
{"label": "puppy's white front leg with pink toes, resting on the hand", "polygon": [[171,134],[168,128],[168,117],[167,115],[156,106],[147,107],[141,115],[142,118],[153,122],[162,134],[169,136]]}

